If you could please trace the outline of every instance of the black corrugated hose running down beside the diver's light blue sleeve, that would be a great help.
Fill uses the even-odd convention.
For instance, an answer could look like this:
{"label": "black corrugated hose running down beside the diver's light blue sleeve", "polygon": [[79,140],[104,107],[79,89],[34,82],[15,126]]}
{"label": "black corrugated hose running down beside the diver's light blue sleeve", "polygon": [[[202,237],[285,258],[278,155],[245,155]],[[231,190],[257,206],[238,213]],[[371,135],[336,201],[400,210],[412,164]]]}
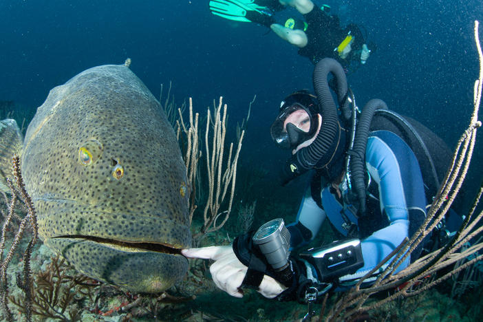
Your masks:
{"label": "black corrugated hose running down beside the diver's light blue sleeve", "polygon": [[361,118],[358,120],[354,148],[347,151],[351,155],[350,172],[352,178],[352,190],[356,193],[359,202],[359,215],[365,215],[365,148],[367,146],[367,136],[369,136],[369,126],[372,116],[376,109],[387,109],[383,100],[372,99],[363,108]]}

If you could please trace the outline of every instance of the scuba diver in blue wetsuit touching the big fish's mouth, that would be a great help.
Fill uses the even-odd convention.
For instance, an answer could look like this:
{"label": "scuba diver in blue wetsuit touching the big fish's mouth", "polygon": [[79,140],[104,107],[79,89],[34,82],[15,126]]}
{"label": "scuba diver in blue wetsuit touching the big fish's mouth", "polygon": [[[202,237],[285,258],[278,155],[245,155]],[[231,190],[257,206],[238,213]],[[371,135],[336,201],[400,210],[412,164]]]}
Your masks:
{"label": "scuba diver in blue wetsuit touching the big fish's mouth", "polygon": [[[337,105],[329,76],[335,79]],[[382,100],[369,100],[359,113],[343,67],[334,59],[317,63],[313,83],[316,96],[306,90],[287,96],[270,127],[275,143],[291,151],[281,167],[281,184],[310,173],[296,222],[285,227],[283,219],[273,219],[237,237],[232,246],[182,250],[189,258],[212,259],[213,281],[234,297],[248,287],[264,297],[310,303],[325,292],[354,286],[416,233],[451,163],[451,151],[436,134],[390,111]],[[298,251],[325,219],[338,241]],[[444,226],[394,272],[440,248],[461,222],[450,211]]]}

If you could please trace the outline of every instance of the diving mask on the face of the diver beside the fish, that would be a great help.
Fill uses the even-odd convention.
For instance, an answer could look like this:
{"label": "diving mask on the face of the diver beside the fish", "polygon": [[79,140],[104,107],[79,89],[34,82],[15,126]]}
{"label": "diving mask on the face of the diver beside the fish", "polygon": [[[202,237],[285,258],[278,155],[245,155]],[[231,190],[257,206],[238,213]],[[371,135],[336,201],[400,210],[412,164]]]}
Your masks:
{"label": "diving mask on the face of the diver beside the fish", "polygon": [[294,103],[281,110],[270,127],[270,134],[282,149],[295,149],[312,138],[318,127],[319,118],[307,107]]}

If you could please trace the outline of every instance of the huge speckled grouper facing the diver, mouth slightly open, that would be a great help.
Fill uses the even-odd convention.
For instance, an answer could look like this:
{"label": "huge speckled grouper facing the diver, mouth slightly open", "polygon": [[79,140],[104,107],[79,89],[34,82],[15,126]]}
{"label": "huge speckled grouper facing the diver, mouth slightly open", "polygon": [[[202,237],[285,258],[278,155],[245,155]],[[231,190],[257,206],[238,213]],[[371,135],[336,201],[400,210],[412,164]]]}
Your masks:
{"label": "huge speckled grouper facing the diver, mouth slightly open", "polygon": [[[21,155],[39,235],[83,274],[161,292],[186,273],[186,168],[160,103],[125,65],[55,87],[28,126],[0,122],[0,189]],[[3,178],[1,178],[3,176]]]}

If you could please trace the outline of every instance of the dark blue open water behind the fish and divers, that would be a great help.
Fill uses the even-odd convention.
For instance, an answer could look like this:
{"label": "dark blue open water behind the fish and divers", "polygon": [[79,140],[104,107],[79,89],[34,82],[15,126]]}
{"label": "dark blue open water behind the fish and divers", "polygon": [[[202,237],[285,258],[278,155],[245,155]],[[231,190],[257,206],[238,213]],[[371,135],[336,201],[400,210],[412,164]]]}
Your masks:
{"label": "dark blue open water behind the fish and divers", "polygon": [[[377,45],[349,76],[358,105],[381,98],[453,146],[472,108],[473,21],[483,19],[482,1],[326,3],[344,23],[363,25]],[[294,10],[277,18],[288,14]],[[274,162],[286,157],[268,133],[279,102],[312,88],[313,66],[294,47],[261,26],[213,16],[208,0],[1,1],[0,34],[0,100],[31,109],[78,72],[127,57],[155,96],[170,80],[178,101],[192,96],[200,111],[224,96],[232,124],[257,94],[244,160],[273,175]]]}

